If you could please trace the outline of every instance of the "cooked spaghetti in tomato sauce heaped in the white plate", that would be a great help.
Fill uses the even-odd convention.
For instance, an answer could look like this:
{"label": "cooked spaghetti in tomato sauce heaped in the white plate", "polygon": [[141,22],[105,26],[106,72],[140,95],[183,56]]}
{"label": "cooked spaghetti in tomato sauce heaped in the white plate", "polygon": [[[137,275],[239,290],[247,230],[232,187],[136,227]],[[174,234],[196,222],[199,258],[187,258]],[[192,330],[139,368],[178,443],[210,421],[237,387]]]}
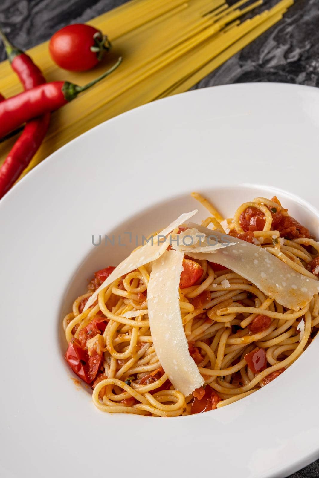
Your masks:
{"label": "cooked spaghetti in tomato sauce heaped in the white plate", "polygon": [[[211,253],[206,254],[209,260],[197,259],[192,250],[189,255],[184,251],[187,254],[184,256],[174,245],[173,250],[172,245],[168,248],[165,245],[160,253],[156,252],[156,257],[161,256],[159,259],[136,267],[106,287],[104,282],[116,269],[109,266],[95,272],[87,293],[77,297],[63,326],[69,344],[66,360],[78,377],[91,384],[93,402],[99,410],[168,417],[220,408],[278,377],[317,334],[319,243],[308,229],[290,217],[276,197],[271,200],[257,197],[242,204],[231,219],[223,219],[199,194],[193,193],[193,197],[209,210],[210,216],[201,224],[203,228],[210,226],[212,233],[228,234],[225,237],[239,241],[240,247],[253,244],[256,257],[261,250],[266,251],[263,254],[267,265],[273,262],[275,266],[285,267],[292,282],[298,283],[299,279],[312,284],[315,287],[312,292],[317,292],[298,307],[290,308],[285,300],[279,300],[276,291],[267,294],[261,287],[262,292],[247,274],[243,277],[217,263],[222,260],[209,261]],[[164,235],[171,232],[175,237],[185,236],[187,231],[191,234],[194,226],[182,225],[168,228]],[[216,253],[216,257],[229,257],[231,248],[229,244],[227,249],[217,251],[220,254]],[[236,252],[239,256],[240,251]],[[150,247],[147,253],[151,254]],[[201,251],[198,256],[205,257],[205,253]],[[181,273],[178,261],[182,264]],[[252,258],[256,264],[254,274],[257,270],[261,277],[266,276],[257,262]],[[170,303],[167,299],[175,284],[174,274],[178,306],[175,322],[171,317],[174,301]],[[165,281],[161,286],[165,290],[162,297],[161,293],[156,294],[158,280]],[[294,301],[299,291],[291,284]],[[285,286],[288,284],[281,279],[284,291]],[[308,293],[307,287],[300,286],[300,294]],[[163,308],[167,313],[163,313]],[[185,368],[178,362],[182,357],[182,342],[175,347],[178,327],[183,335],[179,339],[183,341],[186,337],[188,343],[189,354],[183,359],[191,363]],[[194,363],[196,370],[192,369]],[[183,374],[187,385],[181,381]],[[175,388],[172,382],[182,385]],[[187,388],[189,384],[195,387],[195,383],[199,385],[195,390]]]}

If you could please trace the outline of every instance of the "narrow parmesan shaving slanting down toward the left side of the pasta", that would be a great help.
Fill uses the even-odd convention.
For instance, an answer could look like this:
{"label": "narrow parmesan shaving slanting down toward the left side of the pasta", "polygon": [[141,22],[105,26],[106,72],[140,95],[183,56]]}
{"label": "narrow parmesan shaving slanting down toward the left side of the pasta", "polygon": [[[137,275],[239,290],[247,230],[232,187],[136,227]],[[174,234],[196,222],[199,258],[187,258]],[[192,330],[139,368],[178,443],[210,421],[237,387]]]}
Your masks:
{"label": "narrow parmesan shaving slanting down toward the left side of the pasta", "polygon": [[[173,221],[167,228],[163,229],[158,236],[167,236],[170,232],[172,232],[175,228],[183,224],[187,221],[190,217],[196,214],[198,209],[194,211],[181,214],[175,221]],[[167,244],[161,240],[159,237],[155,236],[152,242],[147,242],[139,249],[136,249],[132,252],[129,257],[124,259],[109,275],[109,277],[99,286],[99,288],[91,295],[88,299],[88,302],[85,304],[83,311],[87,310],[94,302],[97,300],[98,295],[101,290],[105,287],[110,285],[116,279],[119,279],[124,274],[134,271],[138,267],[141,267],[149,262],[156,261],[162,254],[164,254],[165,250],[167,249]]]}

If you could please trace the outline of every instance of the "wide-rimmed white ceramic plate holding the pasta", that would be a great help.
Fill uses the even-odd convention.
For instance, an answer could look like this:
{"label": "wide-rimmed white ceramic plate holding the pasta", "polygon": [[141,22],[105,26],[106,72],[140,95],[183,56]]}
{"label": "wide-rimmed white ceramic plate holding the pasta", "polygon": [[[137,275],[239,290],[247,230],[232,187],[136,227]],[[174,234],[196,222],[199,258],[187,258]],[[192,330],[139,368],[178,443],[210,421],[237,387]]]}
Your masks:
{"label": "wide-rimmed white ceramic plate holding the pasta", "polygon": [[[92,235],[165,226],[197,207],[193,190],[228,216],[275,192],[319,237],[318,151],[319,90],[214,87],[88,131],[0,201],[1,476],[284,477],[319,457],[319,339],[240,402],[153,419],[99,412],[73,383],[61,331],[92,272],[129,252]],[[247,183],[269,186],[236,186]]]}

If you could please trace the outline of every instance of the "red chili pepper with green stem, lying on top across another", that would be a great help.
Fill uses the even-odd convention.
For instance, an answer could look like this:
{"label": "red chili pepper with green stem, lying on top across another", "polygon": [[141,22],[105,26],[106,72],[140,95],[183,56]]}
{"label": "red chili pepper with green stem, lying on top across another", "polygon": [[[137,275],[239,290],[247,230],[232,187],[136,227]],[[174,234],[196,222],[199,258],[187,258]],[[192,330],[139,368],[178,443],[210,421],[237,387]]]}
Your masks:
{"label": "red chili pepper with green stem, lying on top across another", "polygon": [[110,75],[121,61],[122,59],[119,58],[108,71],[83,87],[68,81],[54,81],[2,101],[0,103],[0,137],[47,111],[61,108],[76,98],[79,93]]}

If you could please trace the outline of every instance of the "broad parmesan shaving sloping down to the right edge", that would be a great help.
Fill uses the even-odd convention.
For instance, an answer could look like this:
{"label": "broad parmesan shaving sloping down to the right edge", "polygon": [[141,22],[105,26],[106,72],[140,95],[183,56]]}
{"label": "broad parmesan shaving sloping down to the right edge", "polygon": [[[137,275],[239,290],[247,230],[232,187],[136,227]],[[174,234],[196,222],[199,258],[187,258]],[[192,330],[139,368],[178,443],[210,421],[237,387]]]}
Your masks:
{"label": "broad parmesan shaving sloping down to the right edge", "polygon": [[[211,229],[189,224],[200,233],[211,234]],[[264,294],[275,299],[279,304],[293,310],[299,310],[310,302],[314,294],[319,292],[319,282],[296,272],[285,262],[270,254],[261,247],[238,238],[226,236],[213,231],[220,241],[229,240],[232,246],[215,250],[212,254],[197,252],[187,248],[187,255],[194,259],[206,259],[216,262],[240,274],[253,282]],[[204,243],[202,243],[205,246]],[[256,262],[257,261],[257,262]]]}

